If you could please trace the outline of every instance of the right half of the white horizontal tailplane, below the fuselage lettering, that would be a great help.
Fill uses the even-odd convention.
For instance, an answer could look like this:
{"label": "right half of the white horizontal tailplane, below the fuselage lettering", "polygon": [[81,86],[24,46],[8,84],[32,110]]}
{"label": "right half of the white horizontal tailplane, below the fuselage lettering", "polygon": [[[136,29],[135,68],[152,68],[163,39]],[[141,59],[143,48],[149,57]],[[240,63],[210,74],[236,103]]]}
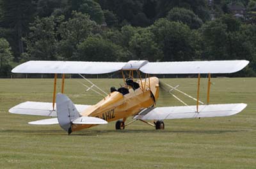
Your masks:
{"label": "right half of the white horizontal tailplane, below the fuselage lettering", "polygon": [[83,116],[79,117],[76,120],[72,121],[73,124],[108,124],[107,121],[104,121],[103,119],[97,118],[97,117],[88,117]]}

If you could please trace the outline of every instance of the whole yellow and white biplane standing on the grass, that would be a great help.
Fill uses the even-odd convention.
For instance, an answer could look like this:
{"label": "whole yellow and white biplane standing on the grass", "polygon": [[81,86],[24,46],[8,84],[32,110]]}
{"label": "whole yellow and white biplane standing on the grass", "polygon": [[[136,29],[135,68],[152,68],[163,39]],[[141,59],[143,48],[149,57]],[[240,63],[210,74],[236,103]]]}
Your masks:
{"label": "whole yellow and white biplane standing on the grass", "polygon": [[[221,117],[241,112],[245,103],[210,104],[212,73],[234,73],[242,70],[249,61],[189,61],[189,62],[83,62],[83,61],[28,61],[13,68],[12,73],[54,74],[52,103],[26,101],[10,108],[12,114],[42,115],[53,117],[29,124],[60,124],[68,134],[84,128],[116,121],[116,129],[124,129],[134,121],[142,121],[156,129],[164,129],[165,119]],[[119,71],[124,85],[111,87],[109,94],[95,105],[75,105],[64,93],[65,74],[104,74]],[[57,75],[62,74],[61,93],[56,94]],[[136,74],[136,78],[134,75]],[[196,104],[179,107],[156,107],[161,83],[156,74],[198,75]],[[200,96],[200,75],[207,74],[207,103]],[[87,78],[83,77],[88,80]],[[88,80],[90,82],[90,80]],[[90,90],[96,86],[92,82]],[[168,85],[168,84],[167,84]],[[169,85],[172,87],[171,85]],[[99,88],[99,87],[97,87]],[[172,87],[171,90],[177,87]],[[177,90],[177,89],[176,89]],[[180,91],[181,92],[181,91]],[[201,103],[201,104],[200,104]],[[128,117],[133,121],[125,124]]]}

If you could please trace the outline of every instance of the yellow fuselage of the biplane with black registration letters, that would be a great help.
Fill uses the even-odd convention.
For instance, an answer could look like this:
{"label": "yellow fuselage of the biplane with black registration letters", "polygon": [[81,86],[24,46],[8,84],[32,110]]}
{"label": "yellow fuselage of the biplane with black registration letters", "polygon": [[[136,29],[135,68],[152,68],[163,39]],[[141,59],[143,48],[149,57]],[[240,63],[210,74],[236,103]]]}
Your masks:
{"label": "yellow fuselage of the biplane with black registration letters", "polygon": [[[81,112],[82,116],[99,117],[105,121],[116,121],[138,114],[141,110],[154,107],[159,96],[159,80],[150,77],[138,82],[140,88],[132,89],[128,86],[129,93],[123,95],[115,91],[111,92],[96,105],[86,108]],[[92,124],[72,124],[72,131],[90,128]]]}

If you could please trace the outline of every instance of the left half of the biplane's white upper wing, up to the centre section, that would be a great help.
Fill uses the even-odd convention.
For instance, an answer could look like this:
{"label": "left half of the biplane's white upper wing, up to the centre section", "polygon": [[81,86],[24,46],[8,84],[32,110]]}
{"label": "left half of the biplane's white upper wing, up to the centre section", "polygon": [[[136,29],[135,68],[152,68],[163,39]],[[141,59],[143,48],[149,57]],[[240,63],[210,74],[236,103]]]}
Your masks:
{"label": "left half of the biplane's white upper wing, up to the centre section", "polygon": [[28,61],[12,73],[103,74],[122,70],[126,62]]}

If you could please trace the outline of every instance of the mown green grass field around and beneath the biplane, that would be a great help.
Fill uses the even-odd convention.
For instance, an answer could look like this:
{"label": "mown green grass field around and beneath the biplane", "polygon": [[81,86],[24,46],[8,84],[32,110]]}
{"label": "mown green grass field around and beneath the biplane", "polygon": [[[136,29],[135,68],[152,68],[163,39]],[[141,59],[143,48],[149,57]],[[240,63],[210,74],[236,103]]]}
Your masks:
{"label": "mown green grass field around and beneath the biplane", "polygon": [[[196,80],[163,79],[192,96],[196,96]],[[74,103],[93,104],[102,98],[85,92],[77,81],[84,82],[67,79],[65,85]],[[92,81],[105,91],[122,83],[120,79]],[[212,78],[212,83],[211,103],[247,103],[248,107],[231,117],[164,121],[164,131],[142,122],[116,131],[115,122],[110,122],[68,136],[58,125],[28,124],[45,117],[8,113],[23,101],[51,102],[52,79],[0,79],[0,168],[256,168],[256,78]],[[200,89],[200,99],[205,101],[206,79]],[[181,105],[170,94],[160,95],[159,107]]]}

